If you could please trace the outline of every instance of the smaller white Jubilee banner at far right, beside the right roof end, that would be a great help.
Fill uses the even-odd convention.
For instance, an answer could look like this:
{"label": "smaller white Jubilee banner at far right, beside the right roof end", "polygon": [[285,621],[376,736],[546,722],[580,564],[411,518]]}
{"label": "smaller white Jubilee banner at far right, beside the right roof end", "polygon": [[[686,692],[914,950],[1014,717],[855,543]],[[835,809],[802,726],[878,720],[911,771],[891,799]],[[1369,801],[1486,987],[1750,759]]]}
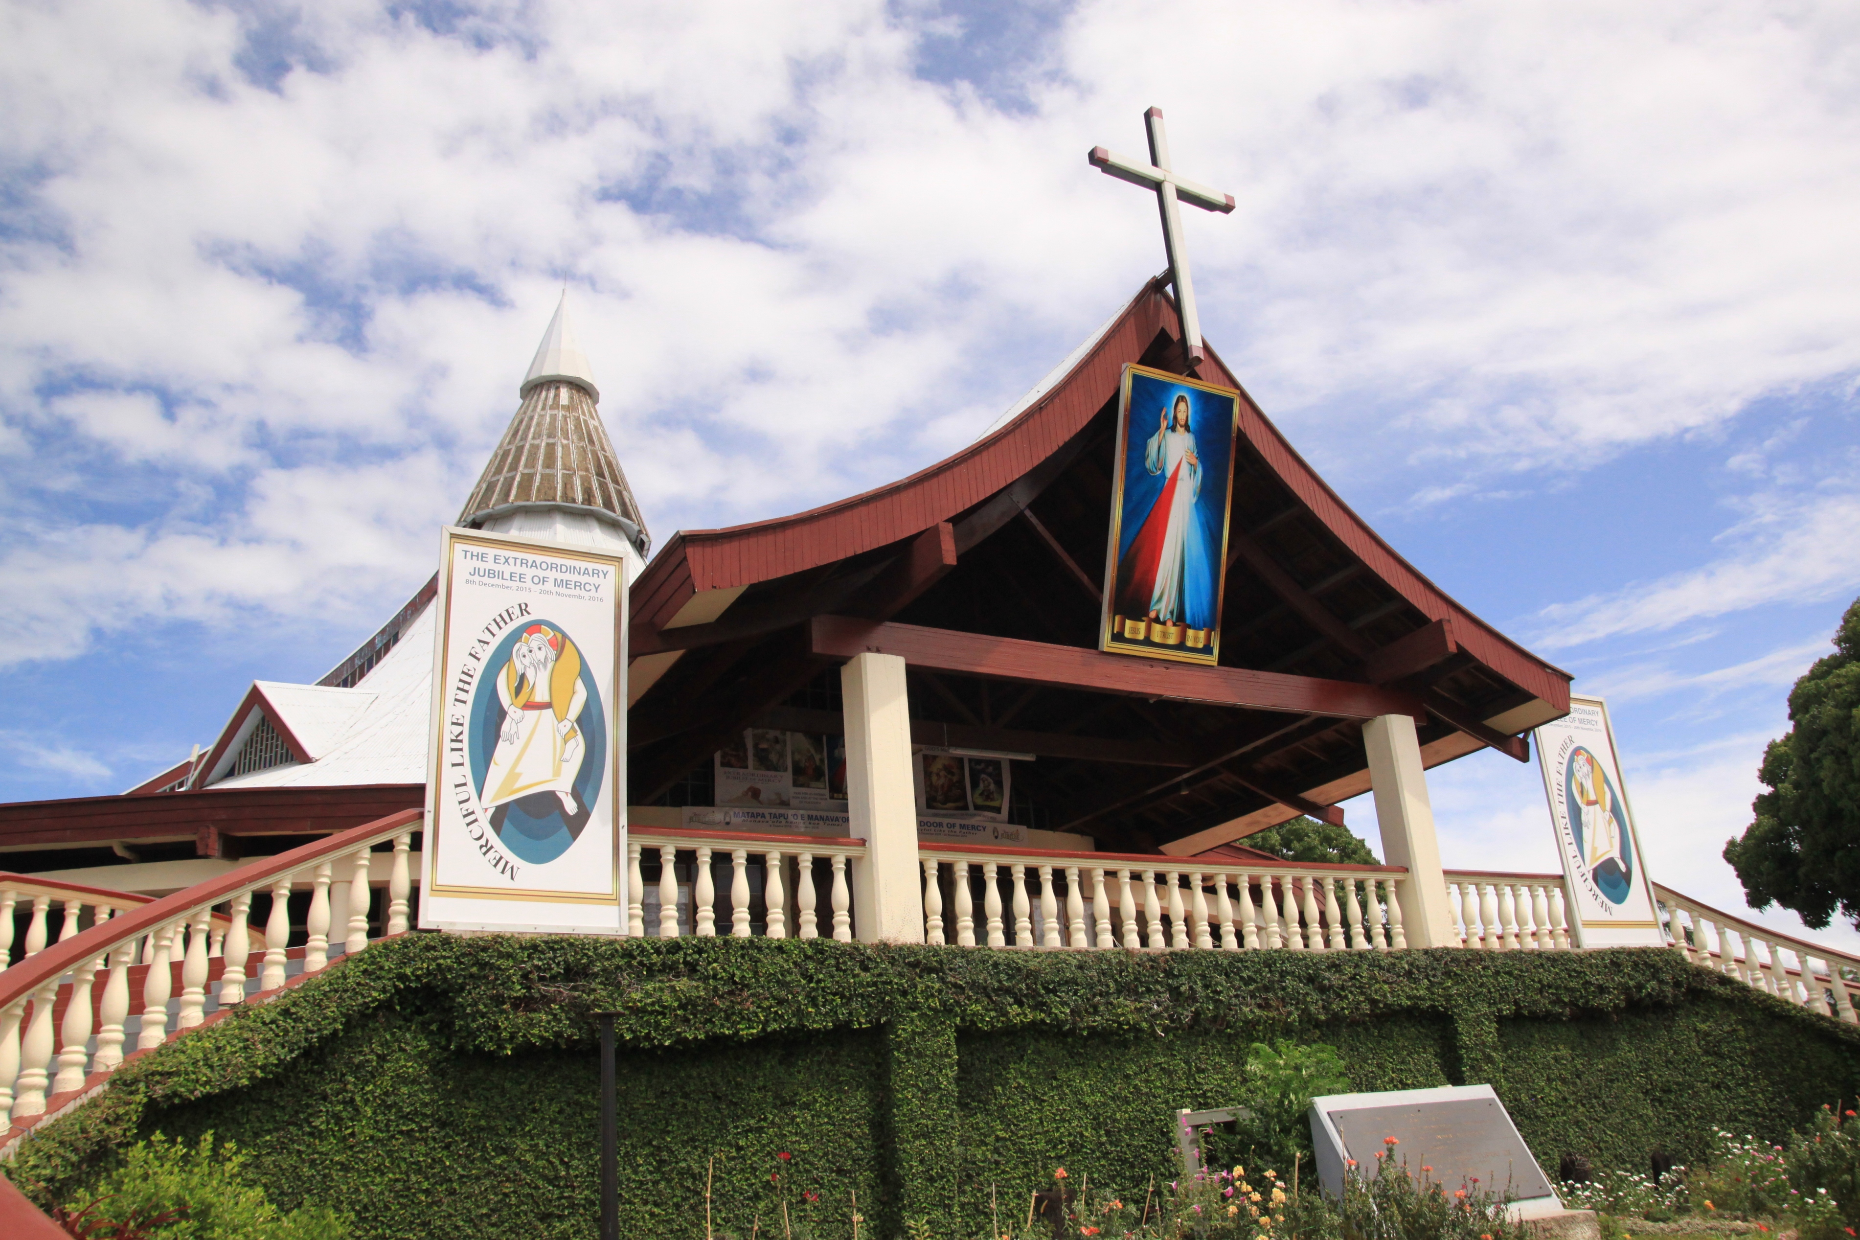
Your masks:
{"label": "smaller white Jubilee banner at far right, beside the right roof end", "polygon": [[1607,704],[1572,694],[1570,713],[1534,739],[1575,946],[1663,948]]}

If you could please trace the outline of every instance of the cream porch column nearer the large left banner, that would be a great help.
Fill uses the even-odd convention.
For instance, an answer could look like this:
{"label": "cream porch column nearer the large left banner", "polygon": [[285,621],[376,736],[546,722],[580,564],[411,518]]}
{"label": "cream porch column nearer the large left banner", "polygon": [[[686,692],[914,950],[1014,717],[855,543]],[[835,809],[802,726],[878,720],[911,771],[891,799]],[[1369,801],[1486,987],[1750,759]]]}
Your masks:
{"label": "cream porch column nearer the large left banner", "polygon": [[923,942],[917,791],[904,659],[861,654],[839,672],[846,713],[846,810],[865,840],[852,903],[859,942]]}

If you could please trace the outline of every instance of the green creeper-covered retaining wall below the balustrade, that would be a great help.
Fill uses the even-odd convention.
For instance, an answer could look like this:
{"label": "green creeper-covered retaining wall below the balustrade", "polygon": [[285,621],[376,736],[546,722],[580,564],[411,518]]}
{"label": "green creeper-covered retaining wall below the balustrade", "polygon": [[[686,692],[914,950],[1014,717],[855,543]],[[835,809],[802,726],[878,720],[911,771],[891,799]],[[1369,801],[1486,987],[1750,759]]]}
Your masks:
{"label": "green creeper-covered retaining wall below the balustrade", "polygon": [[[593,1013],[618,1011],[623,1234],[1016,1227],[1055,1166],[1142,1195],[1250,1043],[1358,1089],[1488,1082],[1538,1158],[1696,1158],[1860,1087],[1860,1030],[1672,951],[986,951],[411,935],[123,1067],[24,1145],[41,1203],[156,1128],[253,1152],[361,1236],[593,1236]],[[787,1152],[790,1160],[779,1160]],[[1077,1180],[1075,1180],[1077,1182]],[[809,1201],[805,1195],[815,1193]]]}

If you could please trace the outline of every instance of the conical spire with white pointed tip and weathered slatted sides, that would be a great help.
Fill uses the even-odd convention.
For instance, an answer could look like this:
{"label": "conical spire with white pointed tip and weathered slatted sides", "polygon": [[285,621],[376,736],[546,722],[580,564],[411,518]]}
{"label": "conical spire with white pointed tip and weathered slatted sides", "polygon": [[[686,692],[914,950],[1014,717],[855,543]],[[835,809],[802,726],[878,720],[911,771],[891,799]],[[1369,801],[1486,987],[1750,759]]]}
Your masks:
{"label": "conical spire with white pointed tip and weathered slatted sides", "polygon": [[523,380],[523,404],[465,501],[459,525],[551,536],[539,518],[556,525],[595,519],[618,525],[644,557],[651,538],[597,398],[564,296]]}

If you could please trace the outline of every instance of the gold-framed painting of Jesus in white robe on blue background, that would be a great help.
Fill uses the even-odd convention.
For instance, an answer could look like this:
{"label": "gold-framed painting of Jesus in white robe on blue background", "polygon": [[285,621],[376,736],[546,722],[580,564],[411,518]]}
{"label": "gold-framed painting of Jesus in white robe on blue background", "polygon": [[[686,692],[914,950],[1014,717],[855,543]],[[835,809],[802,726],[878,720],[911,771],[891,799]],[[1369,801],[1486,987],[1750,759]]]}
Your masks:
{"label": "gold-framed painting of Jesus in white robe on blue background", "polygon": [[1241,393],[1123,367],[1099,650],[1220,661]]}

